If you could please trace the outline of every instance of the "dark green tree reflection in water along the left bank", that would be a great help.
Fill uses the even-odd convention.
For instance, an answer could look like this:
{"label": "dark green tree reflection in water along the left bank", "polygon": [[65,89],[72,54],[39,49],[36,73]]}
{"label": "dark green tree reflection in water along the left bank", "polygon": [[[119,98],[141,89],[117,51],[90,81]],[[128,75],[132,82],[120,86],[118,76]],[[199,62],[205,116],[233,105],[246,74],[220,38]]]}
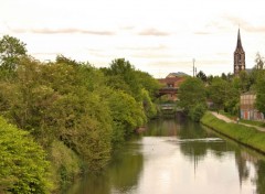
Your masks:
{"label": "dark green tree reflection in water along the left bank", "polygon": [[142,170],[144,158],[139,152],[140,147],[134,142],[125,144],[115,153],[112,163],[104,171],[86,174],[67,191],[67,194],[128,193],[137,185]]}

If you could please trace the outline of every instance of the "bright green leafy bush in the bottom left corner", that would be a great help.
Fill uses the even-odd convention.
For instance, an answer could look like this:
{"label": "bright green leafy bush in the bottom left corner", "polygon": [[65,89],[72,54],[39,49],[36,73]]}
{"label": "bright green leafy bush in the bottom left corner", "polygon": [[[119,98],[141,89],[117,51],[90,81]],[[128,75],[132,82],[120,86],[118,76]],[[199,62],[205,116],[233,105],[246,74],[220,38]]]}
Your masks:
{"label": "bright green leafy bush in the bottom left corner", "polygon": [[0,117],[0,193],[49,193],[50,163],[28,132]]}

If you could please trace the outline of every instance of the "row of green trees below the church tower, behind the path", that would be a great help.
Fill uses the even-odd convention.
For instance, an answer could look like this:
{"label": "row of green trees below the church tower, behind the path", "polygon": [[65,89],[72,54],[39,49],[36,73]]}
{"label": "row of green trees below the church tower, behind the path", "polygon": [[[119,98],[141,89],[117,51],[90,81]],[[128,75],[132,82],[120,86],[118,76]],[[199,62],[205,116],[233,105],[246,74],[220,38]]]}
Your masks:
{"label": "row of green trees below the church tower, behind the path", "polygon": [[206,76],[199,72],[197,77],[187,78],[180,86],[178,104],[197,121],[208,108],[239,117],[241,94],[252,93],[256,95],[255,107],[265,114],[264,63],[264,58],[257,54],[255,66],[242,71],[239,76],[224,73],[221,76]]}

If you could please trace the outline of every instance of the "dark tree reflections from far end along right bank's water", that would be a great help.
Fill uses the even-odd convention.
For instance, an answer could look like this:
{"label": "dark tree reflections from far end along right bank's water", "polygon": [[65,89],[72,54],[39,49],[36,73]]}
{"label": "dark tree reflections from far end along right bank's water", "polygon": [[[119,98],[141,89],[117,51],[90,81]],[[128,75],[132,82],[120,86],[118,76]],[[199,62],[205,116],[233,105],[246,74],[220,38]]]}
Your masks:
{"label": "dark tree reflections from far end along right bank's water", "polygon": [[[183,140],[180,144],[180,150],[194,163],[194,170],[198,164],[203,160],[206,154],[214,154],[216,158],[222,158],[225,153],[234,152],[235,164],[239,171],[240,183],[252,179],[250,177],[250,166],[247,162],[255,165],[256,177],[252,180],[256,184],[256,193],[265,194],[265,160],[257,159],[256,155],[248,153],[246,149],[239,146],[232,140],[224,141],[201,141],[202,139],[218,138],[212,130],[189,120],[166,119],[152,122],[149,126],[152,130],[147,132],[147,136],[176,136],[178,139]],[[187,142],[184,140],[188,140]]]}

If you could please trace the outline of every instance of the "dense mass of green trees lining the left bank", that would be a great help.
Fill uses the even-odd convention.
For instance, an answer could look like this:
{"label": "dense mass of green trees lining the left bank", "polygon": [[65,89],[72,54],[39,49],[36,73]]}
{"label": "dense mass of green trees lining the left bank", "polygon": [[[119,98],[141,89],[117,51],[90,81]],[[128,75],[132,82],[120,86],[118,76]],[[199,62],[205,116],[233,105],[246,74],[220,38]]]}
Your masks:
{"label": "dense mass of green trees lining the left bank", "polygon": [[[113,150],[157,114],[159,84],[124,58],[107,68],[62,55],[42,63],[4,35],[0,63],[0,193],[49,193],[85,166],[104,168]],[[4,120],[13,125],[13,140]]]}

